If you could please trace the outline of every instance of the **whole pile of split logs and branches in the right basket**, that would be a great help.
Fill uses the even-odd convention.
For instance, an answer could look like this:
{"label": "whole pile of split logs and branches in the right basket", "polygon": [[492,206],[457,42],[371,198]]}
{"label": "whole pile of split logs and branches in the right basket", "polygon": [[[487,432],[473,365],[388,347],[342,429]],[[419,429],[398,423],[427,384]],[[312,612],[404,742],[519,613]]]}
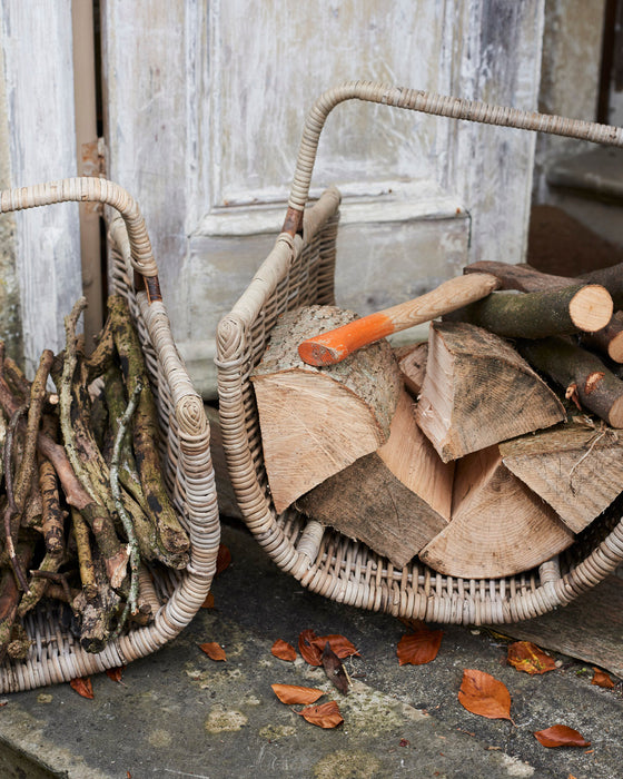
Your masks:
{"label": "whole pile of split logs and branches in the right basket", "polygon": [[[623,267],[476,263],[358,318],[284,314],[256,367],[264,463],[289,506],[397,568],[510,576],[623,494]],[[429,322],[424,343],[385,336]]]}

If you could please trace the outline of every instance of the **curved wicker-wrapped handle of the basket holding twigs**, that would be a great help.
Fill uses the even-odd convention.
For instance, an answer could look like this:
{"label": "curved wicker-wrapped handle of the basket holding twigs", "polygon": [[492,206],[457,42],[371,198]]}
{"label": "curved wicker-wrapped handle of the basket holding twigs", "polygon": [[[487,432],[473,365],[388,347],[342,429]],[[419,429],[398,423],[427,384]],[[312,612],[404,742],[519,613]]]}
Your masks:
{"label": "curved wicker-wrapped handle of the basket holding twigs", "polygon": [[119,211],[126,223],[130,240],[135,287],[140,288],[142,283],[149,303],[161,300],[158,267],[151,252],[145,219],[137,201],[118,184],[96,176],[82,176],[30,187],[4,189],[0,191],[0,214],[72,200],[105,203]]}

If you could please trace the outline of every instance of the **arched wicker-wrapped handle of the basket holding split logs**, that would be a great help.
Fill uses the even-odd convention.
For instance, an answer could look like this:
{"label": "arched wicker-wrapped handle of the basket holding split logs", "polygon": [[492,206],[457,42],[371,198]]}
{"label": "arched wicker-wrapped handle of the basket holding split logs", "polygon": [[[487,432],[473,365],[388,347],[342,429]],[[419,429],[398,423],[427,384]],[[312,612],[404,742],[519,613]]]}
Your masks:
{"label": "arched wicker-wrapped handle of the basket holding split logs", "polygon": [[623,146],[623,128],[612,125],[567,119],[536,111],[523,111],[518,108],[463,100],[375,81],[345,81],[323,92],[307,115],[288,200],[288,210],[281,228],[284,233],[291,236],[303,233],[303,211],[309,196],[309,184],[320,132],[330,111],[346,100],[366,100],[452,119],[548,132],[607,146]]}

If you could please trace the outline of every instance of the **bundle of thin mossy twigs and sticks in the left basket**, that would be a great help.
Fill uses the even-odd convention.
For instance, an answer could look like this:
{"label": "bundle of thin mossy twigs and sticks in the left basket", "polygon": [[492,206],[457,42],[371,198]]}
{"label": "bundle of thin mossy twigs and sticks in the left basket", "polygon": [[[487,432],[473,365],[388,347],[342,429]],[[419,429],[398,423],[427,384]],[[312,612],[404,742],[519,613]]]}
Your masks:
{"label": "bundle of thin mossy twigs and sticks in the left basket", "polygon": [[101,651],[154,618],[149,568],[188,562],[127,304],[109,298],[88,356],[77,335],[85,307],[66,317],[65,349],[46,349],[32,382],[0,343],[0,660],[26,659],[23,620],[38,604],[65,611],[81,645]]}

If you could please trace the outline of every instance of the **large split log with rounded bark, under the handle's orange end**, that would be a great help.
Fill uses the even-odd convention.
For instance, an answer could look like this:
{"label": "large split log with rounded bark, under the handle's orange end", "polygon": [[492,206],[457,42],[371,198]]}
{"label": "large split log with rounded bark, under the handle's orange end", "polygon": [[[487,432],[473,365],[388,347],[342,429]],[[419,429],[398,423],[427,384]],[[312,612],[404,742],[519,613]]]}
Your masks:
{"label": "large split log with rounded bark, under the handle's orange end", "polygon": [[275,510],[375,452],[389,435],[402,379],[385,341],[326,367],[305,364],[298,344],[356,315],[335,306],[284,314],[251,374],[264,463]]}

